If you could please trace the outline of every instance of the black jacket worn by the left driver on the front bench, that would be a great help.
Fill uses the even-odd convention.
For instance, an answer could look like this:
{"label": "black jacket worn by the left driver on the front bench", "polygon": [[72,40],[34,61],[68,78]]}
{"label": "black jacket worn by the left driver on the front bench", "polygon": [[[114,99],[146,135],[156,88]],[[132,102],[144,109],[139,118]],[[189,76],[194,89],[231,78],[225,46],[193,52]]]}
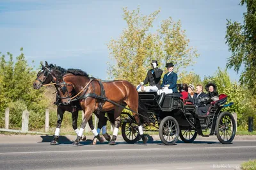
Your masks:
{"label": "black jacket worn by the left driver on the front bench", "polygon": [[[153,73],[152,73],[152,70],[154,70]],[[143,82],[144,84],[148,84],[149,82],[149,86],[157,86],[158,89],[161,89],[160,80],[161,80],[162,74],[163,74],[163,70],[161,70],[160,68],[150,69],[148,70],[147,77]]]}

